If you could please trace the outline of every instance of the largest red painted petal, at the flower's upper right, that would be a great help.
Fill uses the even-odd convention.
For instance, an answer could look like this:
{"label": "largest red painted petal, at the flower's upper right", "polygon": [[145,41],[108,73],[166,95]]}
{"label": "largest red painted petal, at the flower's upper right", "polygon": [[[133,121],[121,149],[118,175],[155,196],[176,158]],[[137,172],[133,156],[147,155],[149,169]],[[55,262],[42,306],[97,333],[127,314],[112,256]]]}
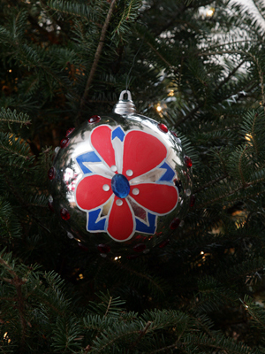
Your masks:
{"label": "largest red painted petal, at the flower's upper right", "polygon": [[132,170],[133,175],[127,177],[132,180],[153,170],[166,156],[166,147],[155,136],[140,131],[129,132],[125,135],[123,174]]}

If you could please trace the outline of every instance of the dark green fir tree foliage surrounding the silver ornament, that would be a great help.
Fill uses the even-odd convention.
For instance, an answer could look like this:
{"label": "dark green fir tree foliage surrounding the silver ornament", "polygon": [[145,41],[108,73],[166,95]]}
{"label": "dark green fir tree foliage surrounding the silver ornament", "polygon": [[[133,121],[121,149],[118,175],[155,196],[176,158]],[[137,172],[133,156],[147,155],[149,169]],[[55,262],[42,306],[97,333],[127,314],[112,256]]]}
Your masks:
{"label": "dark green fir tree foliage surrounding the silver ornament", "polygon": [[[0,13],[0,351],[264,352],[261,22],[226,0],[3,0]],[[181,139],[195,204],[149,253],[102,258],[49,210],[47,172],[66,129],[123,89]]]}

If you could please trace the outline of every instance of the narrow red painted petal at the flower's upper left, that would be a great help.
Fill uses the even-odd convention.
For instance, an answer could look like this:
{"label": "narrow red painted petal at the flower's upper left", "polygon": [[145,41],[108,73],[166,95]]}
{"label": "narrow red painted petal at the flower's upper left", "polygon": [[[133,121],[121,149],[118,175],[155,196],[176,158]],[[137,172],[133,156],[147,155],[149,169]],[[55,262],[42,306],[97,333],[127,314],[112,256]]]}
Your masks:
{"label": "narrow red painted petal at the flower's upper left", "polygon": [[91,133],[92,145],[110,167],[115,165],[115,151],[111,143],[111,132],[110,127],[100,126],[96,127]]}

